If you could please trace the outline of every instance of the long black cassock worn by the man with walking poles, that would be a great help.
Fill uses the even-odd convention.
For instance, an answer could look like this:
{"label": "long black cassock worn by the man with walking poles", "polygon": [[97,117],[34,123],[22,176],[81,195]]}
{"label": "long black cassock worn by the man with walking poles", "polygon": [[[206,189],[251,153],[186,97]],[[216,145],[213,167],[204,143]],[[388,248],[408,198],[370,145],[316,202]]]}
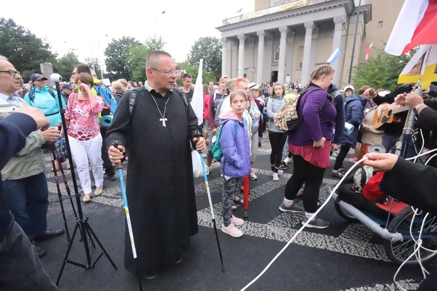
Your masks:
{"label": "long black cassock worn by the man with walking poles", "polygon": [[[144,87],[131,120],[130,92],[118,103],[106,140],[127,149],[126,196],[140,273],[146,274],[158,264],[174,263],[198,232],[189,140],[202,128],[176,92],[150,95]],[[165,127],[152,96],[162,114],[168,101]],[[135,272],[127,224],[125,267]]]}

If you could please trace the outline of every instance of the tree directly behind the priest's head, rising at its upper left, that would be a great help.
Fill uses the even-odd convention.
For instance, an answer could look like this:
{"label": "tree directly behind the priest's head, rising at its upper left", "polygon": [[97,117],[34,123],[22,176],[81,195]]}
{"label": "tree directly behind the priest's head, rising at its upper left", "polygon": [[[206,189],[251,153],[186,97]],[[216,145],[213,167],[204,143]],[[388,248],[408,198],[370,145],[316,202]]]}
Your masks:
{"label": "tree directly behind the priest's head, rising at its upper left", "polygon": [[160,35],[156,40],[147,38],[144,44],[132,46],[129,49],[130,59],[128,68],[132,72],[132,79],[135,81],[146,80],[146,58],[150,52],[154,50],[162,50],[165,46],[165,41]]}

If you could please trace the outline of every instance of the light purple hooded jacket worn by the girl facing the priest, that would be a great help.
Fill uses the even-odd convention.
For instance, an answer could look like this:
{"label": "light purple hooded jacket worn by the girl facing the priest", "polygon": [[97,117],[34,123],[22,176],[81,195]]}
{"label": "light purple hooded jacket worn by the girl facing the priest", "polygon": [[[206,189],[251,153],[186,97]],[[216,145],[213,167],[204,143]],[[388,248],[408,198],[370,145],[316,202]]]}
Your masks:
{"label": "light purple hooded jacket worn by the girl facing the priest", "polygon": [[223,127],[220,137],[220,147],[223,153],[220,169],[228,177],[246,177],[250,171],[249,137],[246,124],[240,121],[233,112],[220,115],[220,119],[220,125]]}

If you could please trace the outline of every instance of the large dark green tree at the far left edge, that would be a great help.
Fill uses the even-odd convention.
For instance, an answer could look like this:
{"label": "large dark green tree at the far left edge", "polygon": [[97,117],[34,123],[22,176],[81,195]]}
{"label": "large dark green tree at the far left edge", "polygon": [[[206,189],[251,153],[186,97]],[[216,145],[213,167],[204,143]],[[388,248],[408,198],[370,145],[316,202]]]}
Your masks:
{"label": "large dark green tree at the far left edge", "polygon": [[49,48],[46,40],[17,25],[13,19],[0,18],[0,55],[7,57],[22,74],[30,76],[41,71],[41,63],[55,64],[56,55]]}

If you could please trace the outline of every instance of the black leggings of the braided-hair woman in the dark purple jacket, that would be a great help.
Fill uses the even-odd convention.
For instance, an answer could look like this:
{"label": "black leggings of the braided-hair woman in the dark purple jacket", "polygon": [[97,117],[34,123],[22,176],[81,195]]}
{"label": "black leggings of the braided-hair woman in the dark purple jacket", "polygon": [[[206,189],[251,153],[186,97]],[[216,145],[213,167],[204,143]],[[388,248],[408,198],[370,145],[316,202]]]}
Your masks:
{"label": "black leggings of the braided-hair woman in the dark purple jacket", "polygon": [[325,175],[325,168],[319,168],[304,160],[302,156],[293,155],[293,175],[285,186],[285,198],[293,200],[305,182],[304,195],[302,196],[305,211],[317,211],[320,186]]}

